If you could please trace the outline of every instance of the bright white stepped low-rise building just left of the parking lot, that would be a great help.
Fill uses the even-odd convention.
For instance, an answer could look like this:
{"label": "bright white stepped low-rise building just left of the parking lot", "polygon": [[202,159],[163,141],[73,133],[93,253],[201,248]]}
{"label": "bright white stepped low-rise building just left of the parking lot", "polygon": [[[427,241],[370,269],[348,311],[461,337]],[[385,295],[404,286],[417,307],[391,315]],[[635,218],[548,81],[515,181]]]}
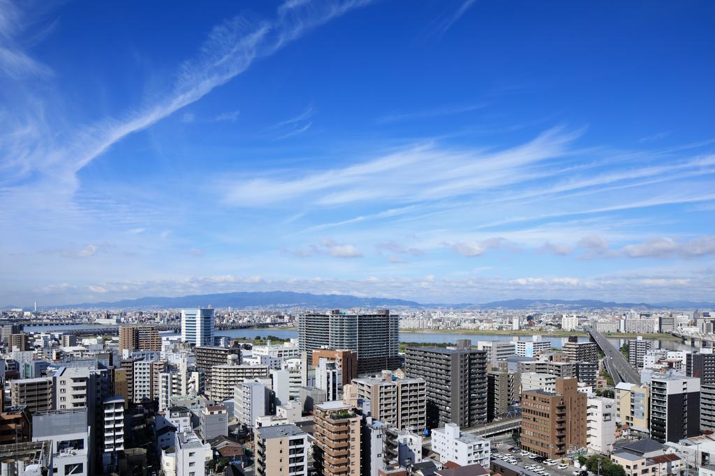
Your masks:
{"label": "bright white stepped low-rise building just left of the parking lot", "polygon": [[432,430],[432,450],[439,453],[440,462],[489,467],[489,440],[461,432],[456,423],[447,423],[443,428]]}

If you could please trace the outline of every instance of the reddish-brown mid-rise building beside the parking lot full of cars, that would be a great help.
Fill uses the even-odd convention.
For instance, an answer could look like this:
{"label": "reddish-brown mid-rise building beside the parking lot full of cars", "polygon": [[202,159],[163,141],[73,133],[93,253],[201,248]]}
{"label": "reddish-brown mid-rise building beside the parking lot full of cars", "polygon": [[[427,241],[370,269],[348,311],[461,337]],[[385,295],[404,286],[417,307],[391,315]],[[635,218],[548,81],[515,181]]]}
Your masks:
{"label": "reddish-brown mid-rise building beside the parking lot full of cars", "polygon": [[586,394],[576,379],[556,380],[556,393],[525,390],[521,393],[521,447],[559,460],[570,448],[586,447]]}

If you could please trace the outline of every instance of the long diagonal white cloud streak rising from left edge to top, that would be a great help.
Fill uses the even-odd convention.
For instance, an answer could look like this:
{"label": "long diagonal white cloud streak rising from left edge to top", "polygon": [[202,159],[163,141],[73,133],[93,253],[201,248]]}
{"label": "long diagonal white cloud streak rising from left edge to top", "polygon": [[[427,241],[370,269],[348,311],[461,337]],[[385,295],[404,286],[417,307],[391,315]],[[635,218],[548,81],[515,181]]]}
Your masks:
{"label": "long diagonal white cloud streak rising from left edge to top", "polygon": [[[74,137],[63,143],[14,142],[10,151],[0,151],[3,152],[0,156],[4,157],[0,159],[0,168],[6,168],[9,182],[19,182],[34,174],[48,180],[59,178],[66,183],[67,191],[74,192],[78,186],[75,174],[114,143],[198,101],[217,86],[242,74],[256,59],[270,56],[300,38],[305,31],[369,3],[370,0],[288,1],[279,7],[277,17],[272,20],[248,22],[236,17],[225,21],[211,31],[197,58],[181,66],[171,93],[156,101],[130,107],[119,118],[105,118],[81,126]],[[8,5],[11,6],[6,0]],[[14,10],[9,11],[12,14]],[[2,21],[10,24],[12,18],[5,14]],[[35,119],[43,128],[51,127],[41,117]],[[16,134],[17,131],[11,129],[6,133]],[[48,136],[54,137],[54,134]],[[0,144],[4,143],[2,139]],[[18,160],[19,154],[22,161]]]}

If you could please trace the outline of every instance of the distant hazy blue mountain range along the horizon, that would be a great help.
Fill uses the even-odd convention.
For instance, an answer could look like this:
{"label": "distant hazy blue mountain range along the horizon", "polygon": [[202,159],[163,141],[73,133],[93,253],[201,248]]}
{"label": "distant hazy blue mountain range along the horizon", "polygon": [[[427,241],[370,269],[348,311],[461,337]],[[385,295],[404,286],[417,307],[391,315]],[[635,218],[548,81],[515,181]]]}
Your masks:
{"label": "distant hazy blue mountain range along the horizon", "polygon": [[[714,303],[692,301],[669,301],[666,303],[614,303],[601,300],[561,300],[561,299],[511,299],[482,304],[417,303],[415,301],[390,298],[360,298],[353,295],[293,293],[290,291],[218,293],[169,297],[147,297],[125,299],[103,303],[79,303],[51,306],[58,309],[170,309],[196,308],[212,305],[215,308],[455,308],[455,309],[606,309],[606,308],[715,308]],[[4,309],[19,306],[6,306]]]}

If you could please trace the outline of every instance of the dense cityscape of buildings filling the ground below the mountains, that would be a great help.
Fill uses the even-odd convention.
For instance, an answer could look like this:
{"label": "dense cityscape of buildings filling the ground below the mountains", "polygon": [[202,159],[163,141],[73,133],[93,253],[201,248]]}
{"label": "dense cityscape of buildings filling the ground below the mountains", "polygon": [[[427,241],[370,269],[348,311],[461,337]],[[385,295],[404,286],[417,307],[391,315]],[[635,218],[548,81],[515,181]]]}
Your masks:
{"label": "dense cityscape of buildings filling the ground below the mountains", "polygon": [[[714,325],[702,310],[4,310],[3,471],[710,476]],[[447,340],[409,343],[415,329]]]}

